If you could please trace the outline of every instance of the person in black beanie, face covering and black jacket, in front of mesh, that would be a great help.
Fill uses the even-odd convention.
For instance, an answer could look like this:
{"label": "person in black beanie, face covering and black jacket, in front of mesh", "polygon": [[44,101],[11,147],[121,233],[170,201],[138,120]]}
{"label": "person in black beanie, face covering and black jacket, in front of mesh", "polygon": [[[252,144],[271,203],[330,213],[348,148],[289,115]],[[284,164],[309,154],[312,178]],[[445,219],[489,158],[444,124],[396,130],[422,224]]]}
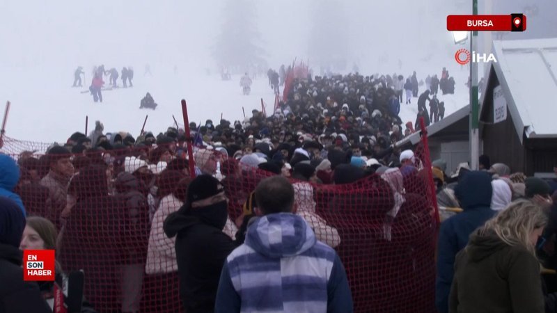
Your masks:
{"label": "person in black beanie, face covering and black jacket, in front of mesh", "polygon": [[221,183],[199,175],[187,188],[185,204],[164,220],[175,239],[180,298],[189,313],[213,312],[226,257],[235,244],[222,232],[228,219],[228,198]]}

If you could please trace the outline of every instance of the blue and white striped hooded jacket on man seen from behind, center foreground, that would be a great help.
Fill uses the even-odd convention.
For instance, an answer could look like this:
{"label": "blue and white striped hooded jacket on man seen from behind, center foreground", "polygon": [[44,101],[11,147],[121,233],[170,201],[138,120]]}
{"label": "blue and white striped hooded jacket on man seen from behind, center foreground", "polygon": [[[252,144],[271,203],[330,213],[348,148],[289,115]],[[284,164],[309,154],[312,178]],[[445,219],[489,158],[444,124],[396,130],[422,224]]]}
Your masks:
{"label": "blue and white striped hooded jacket on man seen from behind, center foreground", "polygon": [[269,214],[223,266],[215,312],[353,312],[335,250],[295,214]]}

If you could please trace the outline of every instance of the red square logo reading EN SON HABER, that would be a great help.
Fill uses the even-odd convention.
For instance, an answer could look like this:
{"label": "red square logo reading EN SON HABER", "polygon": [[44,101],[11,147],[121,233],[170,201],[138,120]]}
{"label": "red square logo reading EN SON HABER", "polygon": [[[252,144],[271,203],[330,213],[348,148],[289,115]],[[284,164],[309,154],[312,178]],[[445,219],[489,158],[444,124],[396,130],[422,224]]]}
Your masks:
{"label": "red square logo reading EN SON HABER", "polygon": [[23,280],[54,281],[54,250],[24,250]]}

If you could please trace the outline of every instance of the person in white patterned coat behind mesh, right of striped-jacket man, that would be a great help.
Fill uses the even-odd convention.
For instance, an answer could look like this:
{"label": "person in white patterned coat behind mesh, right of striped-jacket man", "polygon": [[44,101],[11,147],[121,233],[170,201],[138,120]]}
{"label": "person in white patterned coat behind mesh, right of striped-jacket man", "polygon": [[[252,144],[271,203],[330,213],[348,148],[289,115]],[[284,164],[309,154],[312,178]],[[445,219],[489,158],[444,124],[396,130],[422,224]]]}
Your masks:
{"label": "person in white patterned coat behind mesh, right of striped-jacket man", "polygon": [[315,200],[313,200],[313,186],[308,182],[296,182],[294,199],[297,207],[296,214],[304,218],[315,232],[315,238],[322,243],[335,248],[340,244],[340,236],[335,227],[327,225],[327,220],[315,213]]}

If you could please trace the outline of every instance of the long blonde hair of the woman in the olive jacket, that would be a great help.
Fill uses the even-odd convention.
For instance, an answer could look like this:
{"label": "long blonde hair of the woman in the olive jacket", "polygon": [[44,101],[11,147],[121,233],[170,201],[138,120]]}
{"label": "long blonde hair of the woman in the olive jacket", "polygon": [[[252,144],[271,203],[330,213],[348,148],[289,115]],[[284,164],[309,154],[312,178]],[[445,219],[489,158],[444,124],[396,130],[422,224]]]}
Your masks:
{"label": "long blonde hair of the woman in the olive jacket", "polygon": [[542,207],[529,200],[517,200],[488,220],[477,233],[480,236],[494,233],[509,246],[522,246],[535,255],[530,234],[547,225],[547,220],[547,212]]}

